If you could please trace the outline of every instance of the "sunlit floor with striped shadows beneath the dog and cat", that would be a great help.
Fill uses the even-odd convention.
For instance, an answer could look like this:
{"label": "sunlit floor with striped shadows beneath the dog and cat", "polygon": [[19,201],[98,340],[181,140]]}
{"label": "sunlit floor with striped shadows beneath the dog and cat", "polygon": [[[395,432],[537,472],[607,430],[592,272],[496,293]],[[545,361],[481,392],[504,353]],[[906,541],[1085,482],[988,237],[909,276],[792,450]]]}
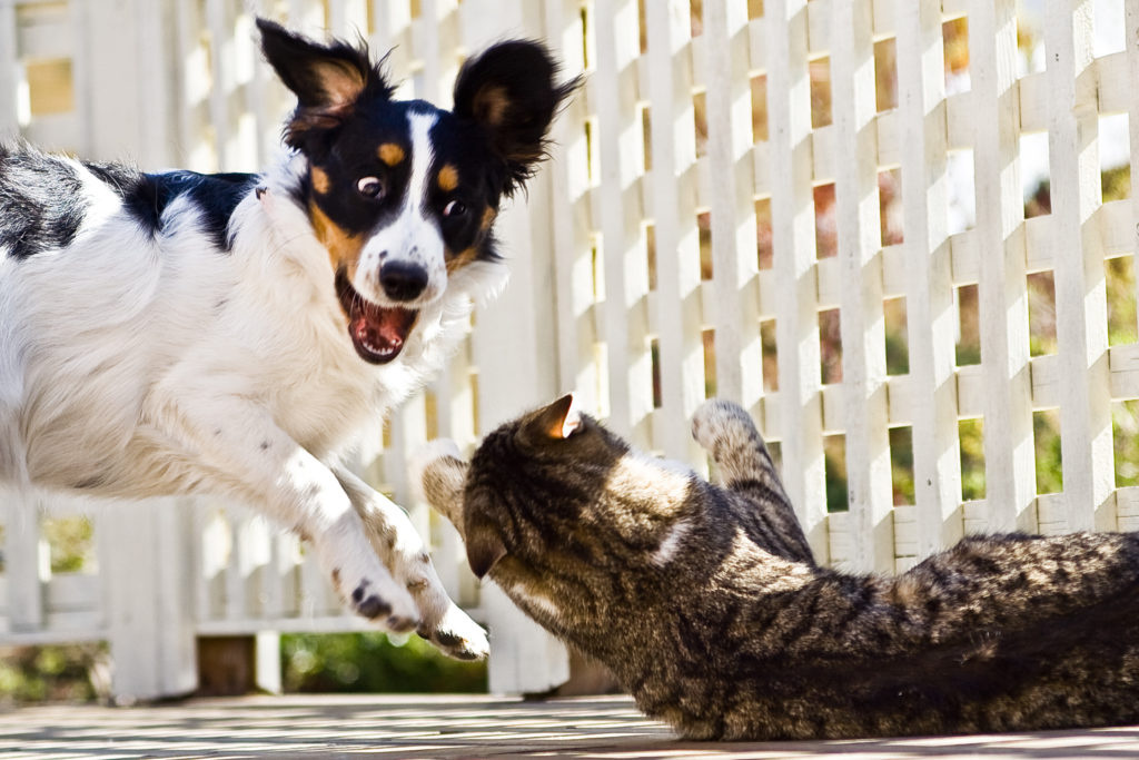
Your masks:
{"label": "sunlit floor with striped shadows beneath the dog and cat", "polygon": [[857,742],[678,742],[623,697],[285,696],[0,713],[0,758],[1139,758],[1139,727]]}

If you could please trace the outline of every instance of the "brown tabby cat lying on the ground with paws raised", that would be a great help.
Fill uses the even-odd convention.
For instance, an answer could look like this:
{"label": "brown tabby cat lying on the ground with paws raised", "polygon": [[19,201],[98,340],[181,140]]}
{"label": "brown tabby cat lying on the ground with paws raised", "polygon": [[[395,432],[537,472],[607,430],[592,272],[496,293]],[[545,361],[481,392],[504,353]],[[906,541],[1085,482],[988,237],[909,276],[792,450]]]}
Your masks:
{"label": "brown tabby cat lying on the ground with paws raised", "polygon": [[762,438],[706,402],[726,484],[638,453],[570,397],[437,444],[427,500],[490,577],[688,738],[1139,721],[1139,533],[966,538],[896,577],[816,564]]}

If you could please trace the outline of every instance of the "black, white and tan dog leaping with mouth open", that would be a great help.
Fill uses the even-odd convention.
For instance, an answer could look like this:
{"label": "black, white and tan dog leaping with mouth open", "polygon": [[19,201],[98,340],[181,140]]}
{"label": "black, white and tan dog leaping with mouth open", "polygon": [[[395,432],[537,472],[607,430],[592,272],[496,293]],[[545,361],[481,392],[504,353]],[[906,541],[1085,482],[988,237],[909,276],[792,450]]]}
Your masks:
{"label": "black, white and tan dog leaping with mouth open", "polygon": [[337,457],[501,286],[499,202],[573,83],[502,42],[448,112],[393,100],[363,46],[257,26],[298,101],[262,174],[0,148],[0,481],[239,499],[311,541],[357,613],[482,656],[407,515]]}

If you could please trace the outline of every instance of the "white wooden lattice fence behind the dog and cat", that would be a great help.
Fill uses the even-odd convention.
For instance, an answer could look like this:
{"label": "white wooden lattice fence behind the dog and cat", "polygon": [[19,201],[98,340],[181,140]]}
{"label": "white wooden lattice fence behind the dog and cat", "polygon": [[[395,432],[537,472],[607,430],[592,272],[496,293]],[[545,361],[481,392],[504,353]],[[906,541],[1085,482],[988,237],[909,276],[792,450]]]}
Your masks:
{"label": "white wooden lattice fence behind the dog and cat", "polygon": [[[567,390],[641,447],[697,463],[688,417],[715,392],[777,444],[827,562],[892,571],[969,531],[1139,526],[1139,489],[1116,488],[1113,465],[1113,407],[1139,399],[1134,297],[1106,295],[1118,262],[1130,269],[1139,201],[1103,203],[1097,139],[1103,117],[1126,114],[1136,169],[1139,0],[1048,2],[1039,71],[1014,0],[249,5],[394,47],[407,97],[446,103],[462,57],[511,34],[588,75],[551,162],[500,222],[506,295],[361,457],[402,504],[419,442],[473,446]],[[1128,44],[1097,57],[1111,23]],[[0,128],[48,147],[255,170],[288,106],[239,2],[0,0]],[[1021,166],[1040,152],[1050,213],[1025,219]],[[1132,342],[1109,345],[1126,309]],[[1041,310],[1056,324],[1044,351]],[[974,330],[980,362],[959,363]],[[1038,495],[1042,415],[1062,433],[1057,493]],[[962,469],[961,447],[980,440],[975,498],[981,455]],[[361,627],[292,539],[240,509],[121,509],[96,523],[98,577],[44,572],[36,524],[8,510],[0,639],[158,641],[120,681],[157,694],[192,678],[195,634]],[[476,588],[449,528],[412,514],[451,591],[491,626],[492,688],[564,679],[564,651]],[[132,577],[123,559],[179,546],[185,577]]]}

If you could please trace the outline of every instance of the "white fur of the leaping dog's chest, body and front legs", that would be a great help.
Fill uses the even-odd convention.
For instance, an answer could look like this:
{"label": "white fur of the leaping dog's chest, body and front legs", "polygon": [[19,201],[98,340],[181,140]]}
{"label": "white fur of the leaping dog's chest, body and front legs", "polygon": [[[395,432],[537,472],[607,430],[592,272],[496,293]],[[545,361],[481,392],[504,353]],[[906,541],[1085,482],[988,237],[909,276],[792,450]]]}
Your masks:
{"label": "white fur of the leaping dog's chest, body and front legs", "polygon": [[402,352],[375,366],[346,338],[328,251],[289,197],[303,156],[241,201],[228,254],[185,198],[151,237],[72,163],[91,202],[73,244],[19,261],[0,251],[0,480],[116,498],[229,495],[310,539],[358,612],[485,654],[407,515],[339,456],[439,370],[472,299],[500,287],[505,268],[433,268]]}

